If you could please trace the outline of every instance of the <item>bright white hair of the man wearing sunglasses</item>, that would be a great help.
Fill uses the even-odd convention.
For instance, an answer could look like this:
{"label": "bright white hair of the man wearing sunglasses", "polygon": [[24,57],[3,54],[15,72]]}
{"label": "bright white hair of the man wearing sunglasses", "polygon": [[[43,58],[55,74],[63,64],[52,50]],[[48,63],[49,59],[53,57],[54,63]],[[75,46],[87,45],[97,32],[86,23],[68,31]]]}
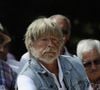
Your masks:
{"label": "bright white hair of the man wearing sunglasses", "polygon": [[96,49],[98,53],[100,53],[100,41],[95,39],[84,39],[79,41],[79,43],[77,44],[76,53],[77,56],[82,60],[82,54],[84,52],[89,52],[93,49]]}

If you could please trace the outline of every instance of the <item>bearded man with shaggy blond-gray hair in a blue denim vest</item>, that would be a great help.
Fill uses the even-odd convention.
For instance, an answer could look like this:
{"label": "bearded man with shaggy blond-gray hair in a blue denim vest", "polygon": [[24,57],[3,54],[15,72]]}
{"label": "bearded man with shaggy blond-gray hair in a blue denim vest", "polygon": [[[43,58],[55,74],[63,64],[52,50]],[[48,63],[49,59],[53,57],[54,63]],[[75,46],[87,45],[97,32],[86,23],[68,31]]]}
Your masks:
{"label": "bearded man with shaggy blond-gray hair in a blue denim vest", "polygon": [[31,58],[18,75],[18,90],[90,90],[80,60],[60,55],[63,44],[53,20],[38,18],[29,25],[25,45]]}

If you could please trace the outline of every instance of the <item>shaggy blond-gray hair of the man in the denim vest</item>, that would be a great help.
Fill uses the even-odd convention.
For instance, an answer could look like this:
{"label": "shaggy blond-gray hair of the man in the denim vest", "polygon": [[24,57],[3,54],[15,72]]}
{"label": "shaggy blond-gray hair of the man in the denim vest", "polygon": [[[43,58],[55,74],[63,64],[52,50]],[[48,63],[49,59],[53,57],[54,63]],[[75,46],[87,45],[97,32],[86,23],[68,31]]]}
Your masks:
{"label": "shaggy blond-gray hair of the man in the denim vest", "polygon": [[43,35],[53,35],[57,37],[62,46],[63,34],[59,26],[49,18],[38,18],[29,25],[25,33],[25,45],[29,52],[31,48],[30,45]]}

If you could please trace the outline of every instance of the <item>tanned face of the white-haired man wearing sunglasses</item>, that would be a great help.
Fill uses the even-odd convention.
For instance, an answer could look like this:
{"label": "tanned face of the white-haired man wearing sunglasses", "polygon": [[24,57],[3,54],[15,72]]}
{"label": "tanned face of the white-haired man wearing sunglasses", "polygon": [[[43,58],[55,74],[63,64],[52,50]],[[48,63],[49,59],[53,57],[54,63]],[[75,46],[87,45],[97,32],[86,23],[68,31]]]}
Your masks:
{"label": "tanned face of the white-haired man wearing sunglasses", "polygon": [[84,66],[91,82],[100,83],[100,54],[96,49],[83,54]]}

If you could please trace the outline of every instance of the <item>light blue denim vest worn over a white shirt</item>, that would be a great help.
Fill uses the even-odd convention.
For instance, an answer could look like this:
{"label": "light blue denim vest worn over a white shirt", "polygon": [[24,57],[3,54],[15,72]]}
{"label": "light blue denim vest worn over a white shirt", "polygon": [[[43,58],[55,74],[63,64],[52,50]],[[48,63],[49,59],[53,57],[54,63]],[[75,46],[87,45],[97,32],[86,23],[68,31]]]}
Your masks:
{"label": "light blue denim vest worn over a white shirt", "polygon": [[[64,55],[60,56],[59,60],[66,90],[88,90],[89,80],[80,60]],[[30,60],[20,74],[30,77],[37,90],[58,90],[53,77],[35,59]]]}

